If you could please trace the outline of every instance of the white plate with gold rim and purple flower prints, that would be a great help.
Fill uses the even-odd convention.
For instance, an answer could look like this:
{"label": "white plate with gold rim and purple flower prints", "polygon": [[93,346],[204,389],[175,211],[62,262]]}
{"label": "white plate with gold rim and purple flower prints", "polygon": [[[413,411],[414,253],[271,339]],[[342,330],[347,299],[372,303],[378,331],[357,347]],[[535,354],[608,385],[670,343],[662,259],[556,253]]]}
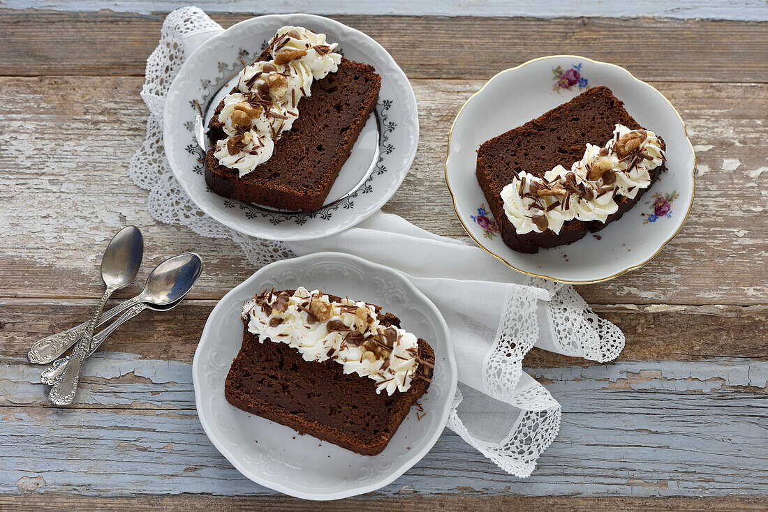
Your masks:
{"label": "white plate with gold rim and purple flower prints", "polygon": [[[667,143],[667,171],[620,220],[567,246],[518,253],[502,241],[475,177],[486,140],[525,124],[587,88],[605,85],[638,123]],[[604,140],[584,140],[584,144]],[[563,162],[570,168],[573,162]],[[680,114],[624,68],[575,55],[538,58],[496,74],[464,104],[449,134],[445,181],[464,229],[483,249],[529,276],[587,283],[648,263],[682,228],[694,201],[696,157]]]}

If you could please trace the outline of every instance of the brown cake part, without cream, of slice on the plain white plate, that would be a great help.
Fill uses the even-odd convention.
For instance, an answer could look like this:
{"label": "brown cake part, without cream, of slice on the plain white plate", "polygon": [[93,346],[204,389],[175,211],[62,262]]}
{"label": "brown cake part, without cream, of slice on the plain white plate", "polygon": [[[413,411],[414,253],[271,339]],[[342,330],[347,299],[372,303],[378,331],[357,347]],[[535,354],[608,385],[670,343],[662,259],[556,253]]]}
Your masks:
{"label": "brown cake part, without cream, of slice on the plain white plate", "polygon": [[[329,296],[334,302],[339,297]],[[399,319],[382,314],[383,325],[399,327]],[[237,408],[284,424],[303,434],[363,455],[386,448],[412,405],[429,387],[435,352],[419,339],[417,377],[406,391],[376,393],[376,382],[356,373],[344,374],[333,359],[305,361],[290,345],[260,340],[243,319],[243,345],[232,363],[224,395]]]}

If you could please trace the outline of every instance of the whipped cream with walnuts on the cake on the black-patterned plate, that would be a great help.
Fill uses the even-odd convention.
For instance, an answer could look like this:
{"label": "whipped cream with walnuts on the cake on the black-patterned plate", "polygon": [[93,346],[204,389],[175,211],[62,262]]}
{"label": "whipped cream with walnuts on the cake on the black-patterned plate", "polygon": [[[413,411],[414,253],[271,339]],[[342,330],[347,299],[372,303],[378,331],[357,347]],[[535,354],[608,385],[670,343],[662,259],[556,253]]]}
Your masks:
{"label": "whipped cream with walnuts on the cake on the black-patterned plate", "polygon": [[272,157],[276,140],[299,117],[299,101],[312,95],[313,82],[338,70],[336,46],[306,28],[277,31],[269,43],[272,59],[240,71],[237,91],[224,97],[219,121],[227,138],[214,151],[220,164],[243,177]]}

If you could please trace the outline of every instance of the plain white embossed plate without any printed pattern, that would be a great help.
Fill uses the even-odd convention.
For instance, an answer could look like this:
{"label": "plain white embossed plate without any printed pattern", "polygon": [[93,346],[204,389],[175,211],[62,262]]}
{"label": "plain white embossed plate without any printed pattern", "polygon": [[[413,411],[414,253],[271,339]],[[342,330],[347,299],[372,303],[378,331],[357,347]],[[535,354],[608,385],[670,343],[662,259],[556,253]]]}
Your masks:
{"label": "plain white embossed plate without any printed pattern", "polygon": [[[368,457],[299,435],[251,415],[224,398],[224,381],[240,350],[243,302],[261,290],[323,289],[382,306],[404,329],[435,349],[432,384],[381,454]],[[396,270],[342,253],[284,259],[260,269],[227,293],[210,313],[192,364],[200,422],[240,473],[276,491],[310,500],[336,500],[375,491],[421,460],[445,428],[456,391],[448,326],[439,310]],[[372,382],[372,381],[371,381]]]}

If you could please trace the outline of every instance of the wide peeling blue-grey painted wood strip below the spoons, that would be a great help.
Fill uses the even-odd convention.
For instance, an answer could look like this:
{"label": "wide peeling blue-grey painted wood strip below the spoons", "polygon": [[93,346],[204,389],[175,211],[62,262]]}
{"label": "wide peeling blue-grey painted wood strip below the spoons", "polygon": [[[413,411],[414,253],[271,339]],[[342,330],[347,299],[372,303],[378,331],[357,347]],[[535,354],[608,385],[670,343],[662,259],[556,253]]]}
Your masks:
{"label": "wide peeling blue-grey painted wood strip below the spoons", "polygon": [[[194,411],[190,365],[104,352],[81,406],[38,406],[39,368],[0,366],[0,494],[273,494],[217,452]],[[450,431],[379,494],[723,496],[768,493],[768,362],[617,362],[533,368],[563,405],[526,480]],[[169,391],[170,390],[170,391]],[[290,441],[290,440],[287,440]],[[33,488],[28,488],[28,487]]]}

